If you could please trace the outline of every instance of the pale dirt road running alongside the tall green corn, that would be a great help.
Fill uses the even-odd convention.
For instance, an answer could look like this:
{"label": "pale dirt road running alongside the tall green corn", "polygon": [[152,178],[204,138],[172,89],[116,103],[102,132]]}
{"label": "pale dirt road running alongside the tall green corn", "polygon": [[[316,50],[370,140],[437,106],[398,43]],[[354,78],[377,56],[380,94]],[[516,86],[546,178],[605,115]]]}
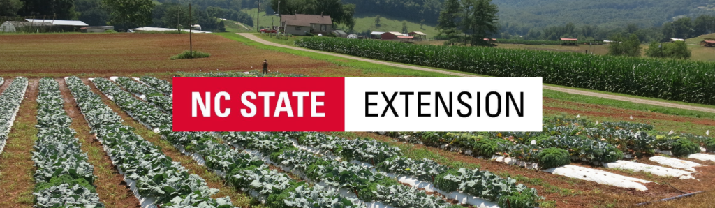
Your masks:
{"label": "pale dirt road running alongside the tall green corn", "polygon": [[[325,51],[316,51],[312,49],[304,49],[300,47],[295,47],[295,46],[286,46],[283,44],[276,44],[272,43],[270,41],[266,41],[264,39],[260,39],[259,37],[255,36],[254,34],[248,34],[248,33],[238,33],[241,36],[245,36],[247,39],[251,39],[252,41],[257,41],[261,44],[269,45],[269,46],[277,46],[277,47],[282,47],[286,49],[294,49],[294,50],[299,50],[299,51],[309,51],[313,53],[318,53],[318,54],[326,54],[330,56],[338,56],[341,58],[345,59],[353,59],[353,60],[358,60],[358,61],[365,61],[365,62],[370,62],[374,64],[383,64],[387,66],[395,66],[395,67],[400,67],[400,68],[405,68],[405,69],[415,69],[415,70],[420,70],[420,71],[430,71],[430,72],[437,72],[441,74],[448,74],[448,75],[453,75],[453,76],[475,76],[472,74],[463,74],[459,72],[453,72],[453,71],[443,71],[443,70],[437,70],[437,69],[429,69],[425,67],[420,67],[420,66],[410,66],[410,65],[405,65],[405,64],[395,64],[391,63],[388,61],[378,61],[374,59],[365,59],[361,58],[358,56],[348,56],[345,54],[335,54],[331,52],[325,52]],[[595,96],[595,97],[600,97],[604,99],[615,99],[619,101],[630,101],[638,104],[650,104],[654,106],[659,106],[659,107],[671,107],[671,108],[676,108],[676,109],[689,109],[689,110],[694,110],[694,111],[699,111],[699,112],[710,112],[710,113],[715,113],[715,109],[711,108],[706,108],[706,107],[694,107],[694,106],[689,106],[689,105],[684,105],[684,104],[674,104],[674,103],[669,103],[669,102],[664,102],[664,101],[654,101],[654,100],[649,100],[649,99],[639,99],[639,98],[633,98],[633,97],[628,97],[628,96],[619,96],[619,95],[613,95],[613,94],[604,94],[604,93],[598,93],[598,92],[593,92],[593,91],[583,91],[583,90],[578,90],[578,89],[568,89],[564,87],[558,87],[558,86],[543,86],[543,89],[551,89],[554,91],[561,91],[561,92],[566,92],[568,94],[580,94],[580,95],[586,95],[586,96]]]}

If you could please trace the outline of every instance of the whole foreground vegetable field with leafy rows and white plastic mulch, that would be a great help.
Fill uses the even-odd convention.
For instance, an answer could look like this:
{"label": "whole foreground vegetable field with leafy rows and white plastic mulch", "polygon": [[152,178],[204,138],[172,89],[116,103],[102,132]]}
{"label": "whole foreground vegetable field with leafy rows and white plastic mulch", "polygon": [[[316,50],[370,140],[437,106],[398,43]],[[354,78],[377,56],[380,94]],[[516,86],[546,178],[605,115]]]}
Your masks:
{"label": "whole foreground vegetable field with leafy rows and white plastic mulch", "polygon": [[[24,202],[34,207],[112,207],[97,194],[97,166],[82,149],[96,144],[77,139],[80,131],[68,116],[73,109],[141,207],[630,207],[715,189],[702,183],[715,179],[715,137],[659,132],[651,124],[545,117],[543,132],[173,132],[170,81],[58,80],[19,77],[0,84],[6,85],[3,128],[28,105],[26,89],[37,89],[31,127],[37,139],[28,150],[35,186]],[[66,99],[77,105],[67,108]],[[152,135],[160,143],[147,139]],[[167,147],[188,160],[169,157]],[[226,197],[209,182],[239,194]]]}

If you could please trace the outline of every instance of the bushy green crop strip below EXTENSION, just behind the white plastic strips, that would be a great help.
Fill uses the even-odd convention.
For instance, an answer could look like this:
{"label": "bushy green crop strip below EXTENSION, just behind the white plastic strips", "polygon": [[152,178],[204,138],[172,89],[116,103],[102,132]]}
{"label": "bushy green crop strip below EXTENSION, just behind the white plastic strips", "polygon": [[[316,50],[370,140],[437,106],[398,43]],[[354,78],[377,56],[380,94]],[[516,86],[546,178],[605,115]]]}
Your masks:
{"label": "bushy green crop strip below EXTENSION, just behind the white plastic strips", "polygon": [[[390,132],[405,142],[425,144],[479,157],[503,155],[534,162],[542,169],[576,161],[603,164],[624,156],[645,157],[656,150],[676,157],[700,152],[699,144],[715,139],[693,134],[664,134],[649,124],[589,122],[549,118],[543,132]],[[699,143],[693,141],[701,141]]]}

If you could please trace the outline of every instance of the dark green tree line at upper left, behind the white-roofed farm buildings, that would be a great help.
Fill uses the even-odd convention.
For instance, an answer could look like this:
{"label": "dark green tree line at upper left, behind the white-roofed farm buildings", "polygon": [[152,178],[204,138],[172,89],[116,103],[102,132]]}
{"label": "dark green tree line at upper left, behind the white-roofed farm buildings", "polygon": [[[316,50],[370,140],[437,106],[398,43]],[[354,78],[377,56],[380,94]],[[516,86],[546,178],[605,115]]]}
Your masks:
{"label": "dark green tree line at upper left, behind the white-roofed farm buildings", "polygon": [[[159,0],[0,0],[0,16],[34,16],[35,19],[80,20],[90,26],[113,25],[117,30],[139,26],[189,28],[189,8],[184,1]],[[194,1],[192,1],[194,2]],[[240,11],[241,0],[197,0],[192,4],[192,24],[202,30],[225,31],[220,19],[252,26]]]}

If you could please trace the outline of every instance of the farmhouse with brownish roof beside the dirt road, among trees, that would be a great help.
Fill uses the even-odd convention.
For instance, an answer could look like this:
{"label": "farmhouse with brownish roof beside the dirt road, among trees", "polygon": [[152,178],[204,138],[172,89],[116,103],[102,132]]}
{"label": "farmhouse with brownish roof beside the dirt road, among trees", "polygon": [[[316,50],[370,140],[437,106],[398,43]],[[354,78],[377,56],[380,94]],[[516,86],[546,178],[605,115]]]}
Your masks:
{"label": "farmhouse with brownish roof beside the dirt road, among trees", "polygon": [[330,19],[330,16],[322,14],[284,14],[281,15],[280,26],[285,29],[284,31],[287,34],[328,34],[332,31],[332,19]]}

